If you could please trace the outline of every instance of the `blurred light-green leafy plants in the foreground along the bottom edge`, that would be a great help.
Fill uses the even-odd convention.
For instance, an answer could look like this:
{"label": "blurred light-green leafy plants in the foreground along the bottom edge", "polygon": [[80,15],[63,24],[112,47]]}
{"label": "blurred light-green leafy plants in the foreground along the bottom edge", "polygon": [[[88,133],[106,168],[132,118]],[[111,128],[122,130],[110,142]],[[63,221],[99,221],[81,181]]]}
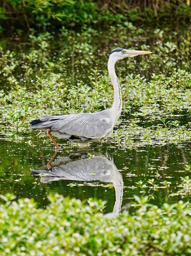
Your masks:
{"label": "blurred light-green leafy plants in the foreground along the bottom edge", "polygon": [[191,208],[138,198],[136,211],[106,218],[100,201],[49,196],[46,209],[1,196],[1,255],[189,255]]}

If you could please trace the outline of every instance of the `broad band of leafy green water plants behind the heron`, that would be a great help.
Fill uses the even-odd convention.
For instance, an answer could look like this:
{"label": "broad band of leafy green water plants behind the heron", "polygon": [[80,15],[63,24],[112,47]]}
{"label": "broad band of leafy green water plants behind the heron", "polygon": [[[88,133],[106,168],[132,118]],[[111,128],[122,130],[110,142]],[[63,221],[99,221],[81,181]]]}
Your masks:
{"label": "broad band of leafy green water plants behind the heron", "polygon": [[[135,36],[141,33],[130,24],[118,33],[122,36],[129,28]],[[115,31],[111,27],[109,33],[115,35]],[[115,130],[115,141],[122,147],[164,145],[190,139],[189,119],[187,123],[178,123],[177,120],[177,113],[187,115],[190,111],[191,74],[186,70],[189,44],[180,39],[185,55],[179,65],[181,68],[178,68],[177,61],[183,46],[177,47],[174,37],[171,42],[164,42],[164,33],[162,36],[160,33],[162,31],[155,33],[159,43],[152,49],[151,60],[139,59],[139,62],[128,59],[117,69],[122,84],[123,112],[132,121],[128,126],[122,122],[123,129]],[[29,121],[41,113],[94,112],[110,107],[113,90],[108,73],[101,71],[107,47],[96,53],[95,36],[99,40],[99,33],[88,29],[74,36],[74,32],[63,27],[59,38],[67,47],[61,47],[61,42],[58,45],[55,35],[46,32],[38,36],[31,33],[30,46],[25,53],[22,50],[16,53],[1,49],[4,89],[0,91],[0,126],[5,136],[22,139],[29,133]],[[84,38],[86,43],[83,43]],[[142,50],[147,49],[146,45],[142,45]],[[95,68],[93,65],[98,58],[101,65]],[[133,74],[140,68],[150,70],[151,64],[155,69],[158,62],[163,62],[163,73],[156,74],[153,70],[147,78]],[[169,66],[169,63],[172,65]],[[141,70],[138,71],[141,73]],[[148,127],[141,125],[140,120],[148,123]]]}

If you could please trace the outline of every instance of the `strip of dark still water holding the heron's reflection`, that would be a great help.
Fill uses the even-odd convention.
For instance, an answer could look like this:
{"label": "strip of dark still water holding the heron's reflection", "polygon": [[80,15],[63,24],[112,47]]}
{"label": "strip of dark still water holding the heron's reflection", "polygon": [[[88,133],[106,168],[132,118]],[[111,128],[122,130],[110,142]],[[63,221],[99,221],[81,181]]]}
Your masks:
{"label": "strip of dark still water holding the heron's reflection", "polygon": [[134,195],[148,196],[158,206],[173,203],[181,200],[181,177],[190,174],[190,145],[124,150],[105,142],[82,150],[60,144],[55,152],[41,141],[30,146],[1,140],[0,194],[34,197],[40,207],[50,192],[81,200],[101,198],[107,201],[106,212],[120,211]]}

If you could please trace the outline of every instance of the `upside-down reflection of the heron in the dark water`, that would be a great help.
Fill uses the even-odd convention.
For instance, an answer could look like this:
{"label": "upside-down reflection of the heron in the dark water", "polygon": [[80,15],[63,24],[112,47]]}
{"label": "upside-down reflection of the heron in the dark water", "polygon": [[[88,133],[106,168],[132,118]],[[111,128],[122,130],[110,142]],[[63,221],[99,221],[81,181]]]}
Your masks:
{"label": "upside-down reflection of the heron in the dark water", "polygon": [[111,216],[120,212],[123,199],[123,178],[113,160],[98,153],[88,158],[87,152],[75,152],[53,161],[56,153],[46,166],[31,170],[33,175],[40,174],[41,183],[51,183],[57,180],[112,183],[116,200]]}

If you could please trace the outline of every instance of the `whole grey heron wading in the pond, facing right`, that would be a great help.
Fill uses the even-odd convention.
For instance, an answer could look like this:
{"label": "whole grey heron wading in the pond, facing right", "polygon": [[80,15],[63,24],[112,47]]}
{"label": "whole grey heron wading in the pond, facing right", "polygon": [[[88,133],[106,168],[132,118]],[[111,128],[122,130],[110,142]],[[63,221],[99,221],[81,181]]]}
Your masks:
{"label": "whole grey heron wading in the pond, facing right", "polygon": [[58,144],[52,135],[59,139],[77,142],[80,146],[87,146],[90,141],[98,140],[109,134],[114,128],[122,111],[121,88],[115,72],[115,63],[127,57],[150,54],[145,50],[128,50],[116,48],[112,50],[108,59],[108,72],[114,86],[114,102],[110,109],[94,113],[74,113],[68,115],[41,115],[33,120],[32,129],[45,129],[47,135],[58,149]]}

